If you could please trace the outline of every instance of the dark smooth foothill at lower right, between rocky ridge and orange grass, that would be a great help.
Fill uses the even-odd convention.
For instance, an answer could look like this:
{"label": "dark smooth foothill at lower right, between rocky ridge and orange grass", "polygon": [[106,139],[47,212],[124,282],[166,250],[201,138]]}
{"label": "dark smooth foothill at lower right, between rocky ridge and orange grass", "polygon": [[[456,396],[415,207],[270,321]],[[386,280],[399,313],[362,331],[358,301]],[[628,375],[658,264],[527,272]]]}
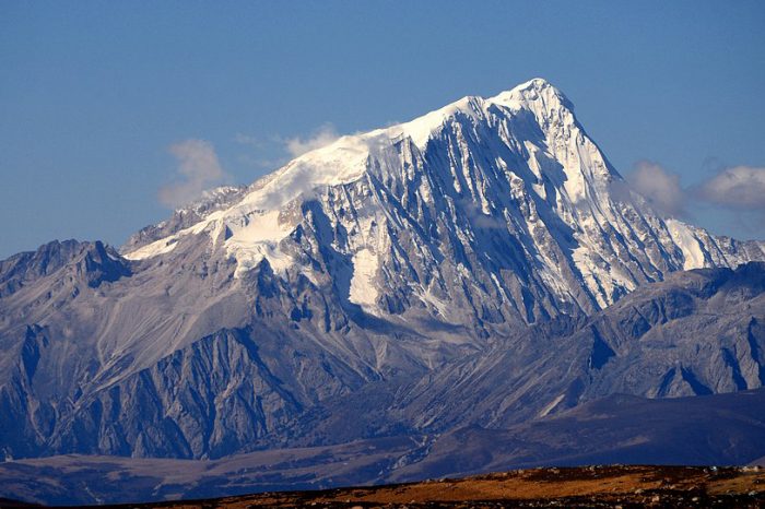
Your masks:
{"label": "dark smooth foothill at lower right, between rocky ridge and orange grass", "polygon": [[612,394],[507,429],[459,428],[439,437],[423,461],[390,478],[540,465],[746,464],[765,449],[763,395],[762,389],[664,400]]}

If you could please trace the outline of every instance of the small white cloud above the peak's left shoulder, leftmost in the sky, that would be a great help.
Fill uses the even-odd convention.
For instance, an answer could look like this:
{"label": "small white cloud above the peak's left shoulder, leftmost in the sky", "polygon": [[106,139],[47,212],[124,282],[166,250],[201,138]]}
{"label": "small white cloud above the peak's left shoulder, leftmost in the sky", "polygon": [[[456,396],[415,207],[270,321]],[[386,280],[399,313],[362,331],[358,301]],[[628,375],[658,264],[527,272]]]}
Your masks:
{"label": "small white cloud above the peak's left shoulder, leftmost in the sky", "polygon": [[217,161],[212,143],[186,140],[168,149],[178,159],[176,180],[160,189],[160,201],[172,208],[187,204],[202,191],[228,179]]}

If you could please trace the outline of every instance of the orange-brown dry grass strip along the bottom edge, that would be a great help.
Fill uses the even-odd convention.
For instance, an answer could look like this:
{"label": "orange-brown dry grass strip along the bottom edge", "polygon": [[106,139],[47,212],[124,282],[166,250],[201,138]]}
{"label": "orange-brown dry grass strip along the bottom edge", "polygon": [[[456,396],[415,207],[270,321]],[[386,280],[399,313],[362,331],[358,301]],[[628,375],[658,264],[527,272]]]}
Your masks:
{"label": "orange-brown dry grass strip along the bottom edge", "polygon": [[587,466],[113,508],[765,508],[765,469]]}

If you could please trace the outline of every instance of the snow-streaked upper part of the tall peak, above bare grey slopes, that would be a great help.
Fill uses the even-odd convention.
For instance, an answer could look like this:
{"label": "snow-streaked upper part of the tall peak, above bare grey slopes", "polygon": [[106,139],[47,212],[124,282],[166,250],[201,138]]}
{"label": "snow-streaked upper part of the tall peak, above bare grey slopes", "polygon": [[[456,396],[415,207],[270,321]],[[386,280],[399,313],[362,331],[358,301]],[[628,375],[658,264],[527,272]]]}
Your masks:
{"label": "snow-streaked upper part of the tall peak, above bare grey slopes", "polygon": [[621,176],[570,102],[537,79],[343,137],[125,256],[166,254],[202,236],[236,260],[237,275],[264,260],[319,282],[311,262],[331,247],[345,258],[349,303],[365,312],[425,307],[447,319],[456,305],[490,322],[591,312],[675,270],[763,257],[756,244],[662,221],[614,187]]}

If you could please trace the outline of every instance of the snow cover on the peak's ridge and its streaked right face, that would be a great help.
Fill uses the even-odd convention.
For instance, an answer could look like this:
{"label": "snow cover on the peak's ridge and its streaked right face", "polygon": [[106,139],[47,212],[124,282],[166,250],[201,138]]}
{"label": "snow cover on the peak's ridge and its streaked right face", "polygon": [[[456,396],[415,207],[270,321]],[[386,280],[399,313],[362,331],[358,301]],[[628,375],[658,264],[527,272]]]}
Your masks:
{"label": "snow cover on the peak's ridge and its streaked right face", "polygon": [[[377,186],[374,178],[378,174],[377,170],[369,171],[373,167],[382,174],[390,171],[392,180],[407,179],[401,177],[402,171],[405,174],[417,168],[440,171],[447,180],[454,177],[455,191],[474,200],[480,204],[480,212],[486,215],[501,214],[503,208],[507,212],[513,209],[513,202],[521,203],[522,206],[519,205],[510,215],[528,233],[530,240],[525,246],[528,252],[541,253],[533,262],[536,276],[558,303],[572,307],[590,306],[587,300],[590,297],[596,307],[607,307],[640,284],[645,280],[642,274],[658,279],[670,270],[732,264],[749,256],[743,251],[739,253],[738,245],[727,246],[701,228],[673,220],[664,223],[649,212],[645,212],[646,218],[639,201],[634,208],[627,205],[620,210],[623,205],[611,193],[611,184],[621,177],[578,125],[572,109],[573,105],[557,88],[544,80],[534,79],[494,97],[467,96],[409,122],[339,138],[259,179],[227,208],[205,215],[192,227],[137,249],[127,258],[165,254],[176,248],[181,237],[204,233],[210,236],[213,248],[222,244],[226,256],[236,259],[235,276],[257,267],[263,259],[268,259],[274,271],[283,273],[295,262],[290,254],[292,251],[282,251],[280,246],[285,246],[282,240],[294,232],[295,221],[301,221],[301,214],[291,213],[290,208],[315,194],[322,200],[321,206],[326,208],[327,214],[332,216],[334,204],[327,201],[326,188],[362,179],[369,180],[358,188],[374,188]],[[463,116],[478,126],[471,135],[486,134],[487,138],[475,142],[463,135],[470,129],[461,121]],[[456,117],[459,121],[452,122]],[[444,154],[449,162],[443,167],[417,166],[421,159],[416,154],[413,156],[412,151],[399,151],[396,146],[408,138],[412,145],[424,152],[428,141],[445,127],[454,129],[455,135],[449,138],[449,153]],[[497,131],[489,133],[487,129]],[[498,150],[495,151],[494,146]],[[486,153],[480,153],[484,147],[487,147]],[[517,157],[504,157],[502,154],[507,149]],[[487,157],[485,162],[482,156]],[[483,180],[487,175],[489,179]],[[494,196],[489,191],[486,182],[492,178],[497,182],[508,179],[511,196]],[[426,184],[423,180],[416,190],[411,189],[421,193],[422,202],[431,203],[432,187]],[[377,206],[375,198],[364,203],[372,209]],[[376,211],[380,212],[379,217],[389,216],[386,205],[380,203],[380,206],[381,210]],[[540,211],[546,211],[541,216],[538,206]],[[391,254],[385,248],[386,239],[380,237],[384,228],[376,229],[377,237],[373,237],[370,224],[362,218],[373,212],[360,210],[351,213],[346,230],[361,233],[352,233],[351,236],[357,237],[349,238],[348,245],[341,249],[352,263],[350,301],[367,312],[377,313],[380,269],[387,267]],[[510,221],[510,215],[506,213],[504,220]],[[562,235],[564,228],[555,226],[557,220],[570,228],[568,234]],[[502,221],[503,217],[498,216],[498,222]],[[393,227],[405,225],[397,223]],[[225,236],[222,235],[224,230]],[[455,235],[464,245],[472,242],[470,229],[458,229]],[[644,247],[646,242],[650,249]],[[517,298],[508,296],[497,274],[489,274],[497,295],[507,300]],[[384,279],[387,277],[389,274],[385,272]],[[469,274],[464,277],[469,279]],[[581,289],[589,297],[582,297]],[[442,300],[424,287],[413,292],[435,312],[444,317],[448,315],[448,295]]]}

